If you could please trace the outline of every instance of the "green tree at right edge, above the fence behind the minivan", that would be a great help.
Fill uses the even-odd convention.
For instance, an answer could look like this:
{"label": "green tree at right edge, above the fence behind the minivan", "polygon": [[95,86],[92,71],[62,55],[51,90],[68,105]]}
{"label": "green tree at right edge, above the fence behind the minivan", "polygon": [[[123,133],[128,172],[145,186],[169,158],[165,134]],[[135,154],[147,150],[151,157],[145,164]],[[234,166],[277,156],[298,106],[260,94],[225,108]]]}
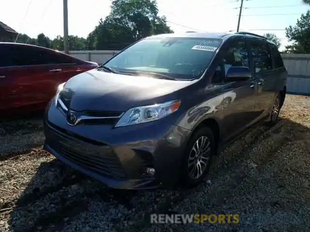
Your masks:
{"label": "green tree at right edge, above the fence behind the minivan", "polygon": [[286,46],[286,52],[310,53],[310,10],[301,14],[296,25],[289,26],[286,30],[286,37],[292,45]]}

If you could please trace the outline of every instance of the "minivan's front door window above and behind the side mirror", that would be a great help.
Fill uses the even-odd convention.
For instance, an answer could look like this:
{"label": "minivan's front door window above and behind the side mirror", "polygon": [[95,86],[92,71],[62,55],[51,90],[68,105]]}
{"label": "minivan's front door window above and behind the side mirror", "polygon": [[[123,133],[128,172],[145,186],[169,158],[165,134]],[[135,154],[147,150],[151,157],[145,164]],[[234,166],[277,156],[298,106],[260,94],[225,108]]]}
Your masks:
{"label": "minivan's front door window above and behind the side mirror", "polygon": [[223,83],[230,67],[248,67],[248,50],[244,39],[228,42],[216,68],[212,83]]}

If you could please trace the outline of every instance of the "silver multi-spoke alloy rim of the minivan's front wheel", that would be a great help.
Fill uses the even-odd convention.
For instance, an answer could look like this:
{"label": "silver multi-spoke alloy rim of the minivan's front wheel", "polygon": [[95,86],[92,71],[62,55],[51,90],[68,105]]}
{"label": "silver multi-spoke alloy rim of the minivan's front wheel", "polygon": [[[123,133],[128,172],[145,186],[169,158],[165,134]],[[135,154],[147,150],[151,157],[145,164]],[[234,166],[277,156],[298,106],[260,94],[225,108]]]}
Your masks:
{"label": "silver multi-spoke alloy rim of the minivan's front wheel", "polygon": [[201,136],[196,140],[190,150],[188,157],[188,174],[191,179],[198,179],[207,168],[210,158],[210,140],[206,136]]}

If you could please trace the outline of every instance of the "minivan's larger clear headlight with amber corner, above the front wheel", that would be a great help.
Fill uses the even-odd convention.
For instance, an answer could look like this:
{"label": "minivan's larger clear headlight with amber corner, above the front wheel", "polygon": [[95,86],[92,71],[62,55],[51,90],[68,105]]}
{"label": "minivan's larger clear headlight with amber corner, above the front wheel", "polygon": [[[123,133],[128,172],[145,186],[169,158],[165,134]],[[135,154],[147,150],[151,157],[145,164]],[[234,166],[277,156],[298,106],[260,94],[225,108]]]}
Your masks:
{"label": "minivan's larger clear headlight with amber corner, above the front wheel", "polygon": [[120,118],[115,127],[124,127],[139,123],[151,122],[177,111],[181,101],[164,102],[131,108]]}

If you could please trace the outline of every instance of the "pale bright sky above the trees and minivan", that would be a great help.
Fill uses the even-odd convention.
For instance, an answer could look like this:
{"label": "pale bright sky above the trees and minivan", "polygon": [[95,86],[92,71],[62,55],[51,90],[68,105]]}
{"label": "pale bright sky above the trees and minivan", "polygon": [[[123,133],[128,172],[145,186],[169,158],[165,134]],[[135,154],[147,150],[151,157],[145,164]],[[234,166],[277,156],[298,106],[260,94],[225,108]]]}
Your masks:
{"label": "pale bright sky above the trees and minivan", "polygon": [[[0,0],[0,21],[19,33],[53,39],[63,35],[62,0]],[[235,32],[241,0],[157,0],[159,15],[175,32]],[[69,34],[86,38],[100,18],[109,15],[111,0],[68,0]],[[280,50],[288,44],[285,28],[294,26],[309,6],[301,0],[244,0],[240,31],[275,33]]]}

